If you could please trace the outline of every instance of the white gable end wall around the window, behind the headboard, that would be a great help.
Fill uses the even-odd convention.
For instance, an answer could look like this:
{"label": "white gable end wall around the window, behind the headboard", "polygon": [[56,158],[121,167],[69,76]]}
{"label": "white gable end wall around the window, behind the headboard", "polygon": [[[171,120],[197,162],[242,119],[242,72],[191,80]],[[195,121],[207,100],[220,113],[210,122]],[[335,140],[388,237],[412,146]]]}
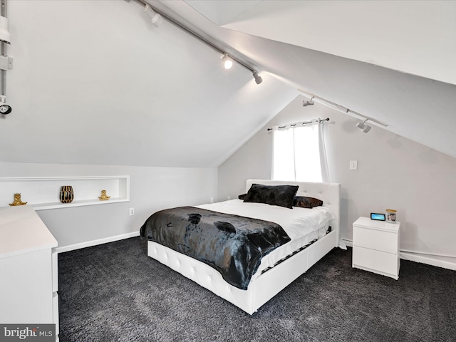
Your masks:
{"label": "white gable end wall around the window, behind the headboard", "polygon": [[[361,133],[358,120],[318,103],[303,108],[303,99],[292,101],[219,167],[219,199],[244,193],[247,178],[270,178],[266,128],[328,117],[331,182],[342,189],[341,236],[351,240],[351,224],[360,216],[397,209],[401,250],[456,258],[456,159],[375,126]],[[348,170],[350,160],[358,160],[358,170]]]}

